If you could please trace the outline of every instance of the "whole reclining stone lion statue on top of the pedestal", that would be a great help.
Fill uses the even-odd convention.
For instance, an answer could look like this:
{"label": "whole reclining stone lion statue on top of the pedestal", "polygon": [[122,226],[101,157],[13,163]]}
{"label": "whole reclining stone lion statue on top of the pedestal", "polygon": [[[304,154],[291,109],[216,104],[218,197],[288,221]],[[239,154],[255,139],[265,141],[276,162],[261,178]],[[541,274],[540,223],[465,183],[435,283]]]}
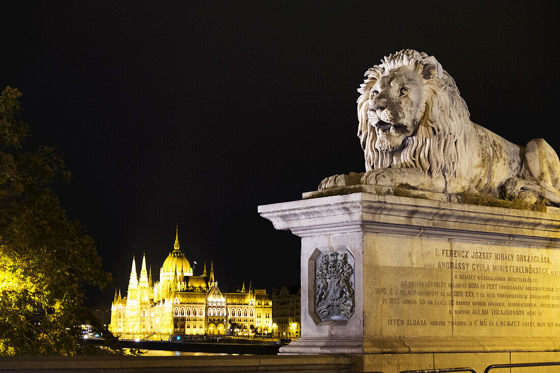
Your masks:
{"label": "whole reclining stone lion statue on top of the pedestal", "polygon": [[455,81],[435,57],[412,49],[391,54],[368,69],[358,92],[366,172],[330,176],[319,190],[406,185],[560,206],[560,161],[552,147],[543,139],[520,147],[470,122]]}

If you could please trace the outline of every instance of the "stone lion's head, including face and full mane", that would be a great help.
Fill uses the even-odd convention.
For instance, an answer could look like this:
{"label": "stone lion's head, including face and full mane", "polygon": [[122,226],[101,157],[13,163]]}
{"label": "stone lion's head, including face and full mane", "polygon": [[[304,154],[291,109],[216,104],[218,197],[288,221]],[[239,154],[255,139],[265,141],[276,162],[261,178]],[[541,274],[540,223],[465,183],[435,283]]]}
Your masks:
{"label": "stone lion's head, including face and full mane", "polygon": [[435,57],[401,50],[365,77],[357,103],[366,170],[418,167],[436,176],[447,165],[453,173],[469,110]]}

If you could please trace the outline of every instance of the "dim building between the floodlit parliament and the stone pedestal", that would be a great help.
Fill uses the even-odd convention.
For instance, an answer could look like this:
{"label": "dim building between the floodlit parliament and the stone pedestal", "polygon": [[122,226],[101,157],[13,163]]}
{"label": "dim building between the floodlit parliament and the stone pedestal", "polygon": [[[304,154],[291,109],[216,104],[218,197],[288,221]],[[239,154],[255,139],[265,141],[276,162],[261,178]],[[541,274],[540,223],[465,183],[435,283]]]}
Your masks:
{"label": "dim building between the floodlit parliament and the stone pedestal", "polygon": [[274,337],[301,337],[301,288],[283,286],[272,290],[272,322]]}

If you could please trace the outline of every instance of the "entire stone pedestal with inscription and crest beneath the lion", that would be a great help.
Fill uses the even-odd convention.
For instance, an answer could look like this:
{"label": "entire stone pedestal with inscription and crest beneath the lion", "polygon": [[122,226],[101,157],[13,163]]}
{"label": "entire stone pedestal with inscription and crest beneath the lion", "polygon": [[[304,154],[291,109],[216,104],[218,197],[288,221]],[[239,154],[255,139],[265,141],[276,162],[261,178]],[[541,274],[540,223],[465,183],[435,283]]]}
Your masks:
{"label": "entire stone pedestal with inscription and crest beneath the lion", "polygon": [[358,354],[369,369],[413,356],[409,369],[433,368],[441,353],[560,359],[559,209],[363,190],[259,206],[301,237],[302,337],[281,353]]}

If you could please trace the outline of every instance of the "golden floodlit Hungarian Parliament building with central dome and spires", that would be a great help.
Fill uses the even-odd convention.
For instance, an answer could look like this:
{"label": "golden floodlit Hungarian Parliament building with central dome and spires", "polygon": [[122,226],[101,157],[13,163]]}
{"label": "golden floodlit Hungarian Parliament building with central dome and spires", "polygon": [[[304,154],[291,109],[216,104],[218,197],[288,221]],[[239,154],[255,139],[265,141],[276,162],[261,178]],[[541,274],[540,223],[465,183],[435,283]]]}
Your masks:
{"label": "golden floodlit Hungarian Parliament building with central dome and spires", "polygon": [[160,269],[160,281],[152,281],[146,255],[138,278],[136,262],[127,296],[115,291],[109,330],[124,339],[170,339],[181,335],[270,333],[272,301],[264,289],[251,286],[227,293],[218,288],[213,263],[202,276],[194,276],[181,252],[176,232],[173,251]]}

